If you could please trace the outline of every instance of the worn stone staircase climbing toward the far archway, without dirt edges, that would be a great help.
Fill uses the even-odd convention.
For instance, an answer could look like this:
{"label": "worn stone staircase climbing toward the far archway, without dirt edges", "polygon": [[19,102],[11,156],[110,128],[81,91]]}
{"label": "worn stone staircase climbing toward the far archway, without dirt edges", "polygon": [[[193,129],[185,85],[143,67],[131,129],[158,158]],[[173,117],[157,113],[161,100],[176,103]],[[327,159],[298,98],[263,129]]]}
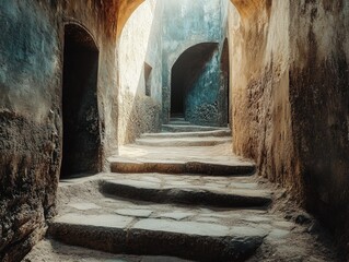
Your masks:
{"label": "worn stone staircase climbing toward the far archway, without dirt edges", "polygon": [[248,221],[272,200],[251,178],[254,164],[231,154],[228,129],[193,128],[182,119],[168,126],[175,132],[143,134],[121,147],[109,158],[112,174],[62,181],[61,194],[82,198],[86,183],[89,194],[66,200],[49,235],[113,253],[199,261],[252,255],[267,231]]}

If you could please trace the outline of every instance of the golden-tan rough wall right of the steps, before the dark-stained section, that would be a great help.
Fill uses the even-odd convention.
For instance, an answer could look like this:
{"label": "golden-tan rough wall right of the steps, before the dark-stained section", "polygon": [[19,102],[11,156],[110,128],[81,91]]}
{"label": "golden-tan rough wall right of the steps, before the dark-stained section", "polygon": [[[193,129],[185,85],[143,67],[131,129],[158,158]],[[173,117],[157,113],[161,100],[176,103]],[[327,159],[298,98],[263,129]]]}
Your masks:
{"label": "golden-tan rough wall right of the steps, before the dark-stained section", "polygon": [[233,147],[256,159],[263,176],[298,191],[289,103],[289,3],[259,2],[258,8],[230,7]]}

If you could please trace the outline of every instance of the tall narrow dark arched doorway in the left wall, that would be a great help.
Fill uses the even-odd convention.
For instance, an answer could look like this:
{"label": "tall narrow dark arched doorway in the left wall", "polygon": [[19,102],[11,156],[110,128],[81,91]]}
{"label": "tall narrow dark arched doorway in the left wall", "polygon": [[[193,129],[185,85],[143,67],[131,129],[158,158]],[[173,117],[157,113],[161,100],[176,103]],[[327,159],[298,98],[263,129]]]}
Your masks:
{"label": "tall narrow dark arched doorway in the left wall", "polygon": [[81,26],[65,27],[61,178],[101,171],[98,49]]}

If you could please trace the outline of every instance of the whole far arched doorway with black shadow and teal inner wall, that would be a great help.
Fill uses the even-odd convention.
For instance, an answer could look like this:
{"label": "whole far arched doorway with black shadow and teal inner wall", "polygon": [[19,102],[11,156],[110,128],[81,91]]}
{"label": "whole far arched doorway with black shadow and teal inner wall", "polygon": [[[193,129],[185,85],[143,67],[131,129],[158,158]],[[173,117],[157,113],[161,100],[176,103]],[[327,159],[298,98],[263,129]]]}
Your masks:
{"label": "whole far arched doorway with black shadow and teal inner wall", "polygon": [[226,126],[228,82],[221,71],[229,73],[229,69],[220,61],[225,55],[218,43],[201,43],[179,56],[171,71],[172,117],[195,124]]}

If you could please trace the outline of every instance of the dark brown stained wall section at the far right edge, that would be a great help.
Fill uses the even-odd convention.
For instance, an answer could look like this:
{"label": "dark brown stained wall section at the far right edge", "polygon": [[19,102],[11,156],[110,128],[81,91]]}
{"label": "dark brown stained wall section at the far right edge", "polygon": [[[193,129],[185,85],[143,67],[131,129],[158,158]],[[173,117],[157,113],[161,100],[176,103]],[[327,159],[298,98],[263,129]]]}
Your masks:
{"label": "dark brown stained wall section at the far right edge", "polygon": [[349,251],[349,2],[290,4],[290,103],[305,204]]}

